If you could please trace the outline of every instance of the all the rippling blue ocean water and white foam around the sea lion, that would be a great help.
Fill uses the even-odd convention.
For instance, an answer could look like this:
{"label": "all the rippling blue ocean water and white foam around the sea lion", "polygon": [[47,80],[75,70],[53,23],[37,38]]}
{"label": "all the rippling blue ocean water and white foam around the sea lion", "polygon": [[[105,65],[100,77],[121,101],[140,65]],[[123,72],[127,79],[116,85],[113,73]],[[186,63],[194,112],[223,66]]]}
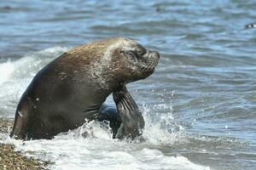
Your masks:
{"label": "all the rippling blue ocean water and white foam around the sea lion", "polygon": [[256,29],[245,29],[255,19],[256,1],[3,0],[0,116],[14,117],[32,77],[68,48],[122,36],[161,58],[128,86],[144,142],[111,139],[99,122],[52,140],[2,142],[51,169],[256,169]]}

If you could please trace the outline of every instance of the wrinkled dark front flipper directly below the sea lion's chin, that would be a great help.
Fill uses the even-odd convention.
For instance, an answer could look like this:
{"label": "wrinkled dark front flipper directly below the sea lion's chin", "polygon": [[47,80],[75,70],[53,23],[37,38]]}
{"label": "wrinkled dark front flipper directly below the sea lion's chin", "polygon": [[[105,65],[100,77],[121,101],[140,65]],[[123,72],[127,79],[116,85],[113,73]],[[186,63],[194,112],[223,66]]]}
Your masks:
{"label": "wrinkled dark front flipper directly below the sea lion's chin", "polygon": [[145,125],[143,115],[127,91],[125,84],[113,92],[113,100],[122,119],[122,124],[119,127],[116,138],[123,139],[126,137],[134,139],[140,136]]}

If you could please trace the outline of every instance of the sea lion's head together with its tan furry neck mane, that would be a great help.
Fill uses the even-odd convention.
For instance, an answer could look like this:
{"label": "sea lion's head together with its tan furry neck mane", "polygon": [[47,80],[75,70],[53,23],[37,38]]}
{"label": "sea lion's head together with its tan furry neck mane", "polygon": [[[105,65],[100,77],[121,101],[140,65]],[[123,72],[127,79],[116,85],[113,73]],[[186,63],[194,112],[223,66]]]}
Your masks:
{"label": "sea lion's head together with its tan furry neck mane", "polygon": [[[67,52],[65,64],[76,65],[79,80],[95,82],[99,88],[113,89],[122,82],[135,82],[150,76],[160,55],[141,44],[125,38],[113,37],[90,42]],[[63,59],[64,60],[64,59]],[[85,73],[84,73],[85,72]],[[85,78],[81,78],[85,75]]]}

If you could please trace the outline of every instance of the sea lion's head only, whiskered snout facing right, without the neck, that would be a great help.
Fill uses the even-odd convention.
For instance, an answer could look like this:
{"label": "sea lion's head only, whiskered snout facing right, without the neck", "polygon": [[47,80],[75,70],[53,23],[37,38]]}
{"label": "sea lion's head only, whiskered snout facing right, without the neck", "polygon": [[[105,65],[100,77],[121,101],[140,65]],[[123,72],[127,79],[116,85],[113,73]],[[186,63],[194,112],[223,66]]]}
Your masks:
{"label": "sea lion's head only, whiskered snout facing right, without the neck", "polygon": [[158,64],[160,54],[124,37],[112,38],[106,50],[112,55],[112,74],[119,82],[135,82],[149,77]]}

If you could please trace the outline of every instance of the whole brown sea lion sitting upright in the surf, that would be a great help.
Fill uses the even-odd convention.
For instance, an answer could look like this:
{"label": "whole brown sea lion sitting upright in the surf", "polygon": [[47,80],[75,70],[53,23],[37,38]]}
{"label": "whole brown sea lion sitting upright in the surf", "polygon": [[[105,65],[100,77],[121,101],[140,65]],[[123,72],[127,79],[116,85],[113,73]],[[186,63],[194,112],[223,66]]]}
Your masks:
{"label": "whole brown sea lion sitting upright in the surf", "polygon": [[[142,134],[143,116],[125,84],[150,76],[160,55],[124,37],[73,48],[46,65],[21,96],[10,134],[52,139],[85,120],[108,120],[113,138]],[[113,93],[115,107],[103,104]]]}

